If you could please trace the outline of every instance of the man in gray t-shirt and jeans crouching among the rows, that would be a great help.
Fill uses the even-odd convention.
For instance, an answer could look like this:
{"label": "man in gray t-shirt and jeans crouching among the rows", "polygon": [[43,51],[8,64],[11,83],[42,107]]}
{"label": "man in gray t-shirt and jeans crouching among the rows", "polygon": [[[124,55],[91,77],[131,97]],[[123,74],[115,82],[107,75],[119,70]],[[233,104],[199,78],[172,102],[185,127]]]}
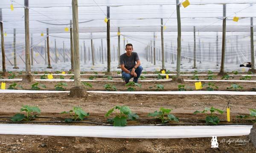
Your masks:
{"label": "man in gray t-shirt and jeans crouching among the rows", "polygon": [[133,47],[130,43],[125,45],[125,51],[126,53],[120,56],[122,77],[125,79],[125,84],[127,84],[132,77],[134,77],[133,81],[137,83],[143,70],[142,66],[140,66],[139,56],[136,52],[132,52]]}

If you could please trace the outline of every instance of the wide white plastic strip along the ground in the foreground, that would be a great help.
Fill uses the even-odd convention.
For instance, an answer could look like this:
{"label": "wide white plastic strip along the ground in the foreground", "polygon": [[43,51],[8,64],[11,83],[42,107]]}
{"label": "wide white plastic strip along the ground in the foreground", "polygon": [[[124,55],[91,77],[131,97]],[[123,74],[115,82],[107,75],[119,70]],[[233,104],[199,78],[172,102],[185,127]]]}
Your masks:
{"label": "wide white plastic strip along the ground in the foreground", "polygon": [[251,128],[252,126],[250,125],[108,127],[0,124],[0,134],[141,139],[200,138],[212,136],[243,136],[250,134]]}

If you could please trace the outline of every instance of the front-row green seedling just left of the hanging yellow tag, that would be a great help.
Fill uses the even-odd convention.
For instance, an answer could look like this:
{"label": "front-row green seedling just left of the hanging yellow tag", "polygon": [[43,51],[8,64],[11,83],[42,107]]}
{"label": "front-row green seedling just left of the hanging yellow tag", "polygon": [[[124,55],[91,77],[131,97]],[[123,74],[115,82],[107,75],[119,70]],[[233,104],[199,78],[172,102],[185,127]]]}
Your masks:
{"label": "front-row green seedling just left of the hanging yellow tag", "polygon": [[[210,115],[207,114],[205,121],[206,123],[212,123],[214,125],[218,125],[218,123],[220,122],[220,120],[218,119],[218,117],[215,115],[215,112],[217,111],[218,113],[222,114],[224,113],[224,111],[216,109],[216,108],[204,108],[204,111],[200,112],[200,111],[195,111],[193,114],[197,114],[197,113],[205,113],[207,111],[210,111]],[[205,113],[206,114],[206,113]]]}

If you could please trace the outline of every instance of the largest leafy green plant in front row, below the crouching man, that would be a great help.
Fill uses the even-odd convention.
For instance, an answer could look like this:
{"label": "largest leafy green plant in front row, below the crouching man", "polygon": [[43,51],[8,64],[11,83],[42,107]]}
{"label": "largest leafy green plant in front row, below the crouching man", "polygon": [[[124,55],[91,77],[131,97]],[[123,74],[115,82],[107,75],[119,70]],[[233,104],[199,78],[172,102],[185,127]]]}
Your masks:
{"label": "largest leafy green plant in front row, below the crouching man", "polygon": [[[116,109],[118,109],[120,113],[116,112]],[[139,118],[137,113],[132,113],[128,106],[115,106],[105,114],[105,117],[110,116],[113,111],[116,113],[116,117],[108,119],[108,122],[113,123],[114,126],[124,127],[127,125],[127,119],[136,120]]]}

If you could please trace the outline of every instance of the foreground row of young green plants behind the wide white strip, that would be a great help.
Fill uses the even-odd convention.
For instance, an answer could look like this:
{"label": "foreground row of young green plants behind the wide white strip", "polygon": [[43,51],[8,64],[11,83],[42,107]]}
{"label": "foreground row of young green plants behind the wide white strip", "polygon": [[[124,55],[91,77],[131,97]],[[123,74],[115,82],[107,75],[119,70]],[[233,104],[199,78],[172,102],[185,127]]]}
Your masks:
{"label": "foreground row of young green plants behind the wide white strip", "polygon": [[[256,110],[255,109],[249,109],[250,114],[249,115],[239,115],[236,116],[236,118],[249,118],[251,122],[256,123]],[[17,122],[17,121],[31,121],[32,119],[35,119],[38,117],[38,114],[41,114],[40,108],[37,106],[28,106],[23,105],[20,109],[20,112],[26,112],[25,114],[22,113],[16,113],[14,116],[11,117],[11,121]],[[148,113],[148,117],[155,117],[159,119],[162,123],[167,123],[171,121],[179,122],[179,118],[175,117],[173,114],[171,114],[172,109],[166,109],[166,108],[160,108],[160,111],[154,111],[153,113]],[[207,113],[209,111],[209,113]],[[69,114],[71,118],[66,118],[65,122],[72,122],[77,120],[84,120],[85,117],[90,116],[90,113],[86,113],[81,107],[73,107],[73,110],[70,111],[62,111],[60,114]],[[113,118],[108,118],[107,122],[110,124],[113,124],[113,126],[126,126],[127,120],[136,120],[139,118],[137,113],[132,113],[131,109],[128,106],[114,106],[108,112],[105,114],[105,117],[111,116],[111,113],[114,113],[115,116]],[[211,107],[211,108],[205,108],[203,111],[195,111],[193,114],[197,113],[204,113],[206,115],[205,122],[213,125],[218,125],[220,122],[220,119],[218,118],[216,113],[223,114],[224,111]]]}

